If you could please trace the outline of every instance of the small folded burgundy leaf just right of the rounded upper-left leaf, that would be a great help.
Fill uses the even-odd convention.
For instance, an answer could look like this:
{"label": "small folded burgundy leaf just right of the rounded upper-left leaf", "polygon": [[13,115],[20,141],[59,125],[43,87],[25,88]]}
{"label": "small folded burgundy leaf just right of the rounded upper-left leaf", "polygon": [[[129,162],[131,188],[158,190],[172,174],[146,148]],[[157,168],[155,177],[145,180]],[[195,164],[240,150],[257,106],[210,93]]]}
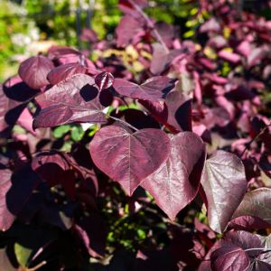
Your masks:
{"label": "small folded burgundy leaf just right of the rounded upper-left leaf", "polygon": [[47,75],[47,79],[52,85],[56,85],[74,74],[86,73],[86,71],[86,67],[80,65],[79,62],[67,63],[51,70]]}

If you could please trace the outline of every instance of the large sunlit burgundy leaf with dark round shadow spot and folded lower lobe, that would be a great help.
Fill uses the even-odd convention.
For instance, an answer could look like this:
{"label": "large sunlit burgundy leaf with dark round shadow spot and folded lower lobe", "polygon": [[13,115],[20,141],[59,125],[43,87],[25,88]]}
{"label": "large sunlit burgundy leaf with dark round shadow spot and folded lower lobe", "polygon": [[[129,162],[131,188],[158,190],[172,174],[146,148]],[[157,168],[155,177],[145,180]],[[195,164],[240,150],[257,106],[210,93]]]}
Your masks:
{"label": "large sunlit burgundy leaf with dark round shadow spot and folded lower lobe", "polygon": [[104,100],[110,99],[109,96],[106,90],[98,94],[93,78],[76,74],[36,98],[43,109],[34,118],[33,127],[52,127],[75,121],[106,122],[102,110],[110,104],[109,100]]}

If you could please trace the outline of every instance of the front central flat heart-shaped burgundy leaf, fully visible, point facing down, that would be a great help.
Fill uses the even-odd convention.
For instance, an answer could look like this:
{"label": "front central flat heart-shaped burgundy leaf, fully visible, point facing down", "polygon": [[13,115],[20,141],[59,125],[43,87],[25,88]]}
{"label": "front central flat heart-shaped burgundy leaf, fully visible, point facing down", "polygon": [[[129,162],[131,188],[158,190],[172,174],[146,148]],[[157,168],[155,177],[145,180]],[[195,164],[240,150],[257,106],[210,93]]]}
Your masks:
{"label": "front central flat heart-shaped burgundy leaf, fully visible, point facing down", "polygon": [[130,133],[120,126],[101,128],[89,145],[94,164],[132,195],[170,154],[171,141],[162,130]]}

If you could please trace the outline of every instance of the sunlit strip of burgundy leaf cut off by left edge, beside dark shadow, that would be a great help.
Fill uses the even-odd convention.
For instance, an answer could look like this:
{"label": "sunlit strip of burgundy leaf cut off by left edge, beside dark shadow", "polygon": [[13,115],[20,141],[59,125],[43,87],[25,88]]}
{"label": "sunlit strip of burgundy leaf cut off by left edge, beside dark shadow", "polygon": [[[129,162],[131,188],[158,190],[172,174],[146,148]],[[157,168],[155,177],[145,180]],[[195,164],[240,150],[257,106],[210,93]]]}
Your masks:
{"label": "sunlit strip of burgundy leaf cut off by left edge, beside dark shadow", "polygon": [[14,222],[14,214],[12,214],[5,201],[5,194],[9,191],[12,186],[11,176],[12,172],[9,169],[3,169],[0,171],[1,182],[0,182],[0,229],[5,231],[9,229]]}

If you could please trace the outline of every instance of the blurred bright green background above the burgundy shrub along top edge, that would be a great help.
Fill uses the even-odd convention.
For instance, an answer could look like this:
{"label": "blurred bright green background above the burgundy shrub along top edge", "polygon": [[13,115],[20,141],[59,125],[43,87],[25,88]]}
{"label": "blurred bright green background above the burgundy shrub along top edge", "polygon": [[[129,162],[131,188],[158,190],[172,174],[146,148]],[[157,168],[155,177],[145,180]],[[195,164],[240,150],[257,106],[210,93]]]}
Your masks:
{"label": "blurred bright green background above the burgundy shrub along top edge", "polygon": [[[239,0],[251,8],[257,1]],[[99,39],[112,39],[121,17],[117,0],[0,0],[0,81],[14,75],[18,63],[47,51],[53,44],[82,47],[81,29],[91,27]],[[234,1],[231,1],[234,2]],[[146,13],[158,21],[180,27],[182,39],[193,39],[194,30],[209,17],[198,17],[201,1],[148,1]],[[259,11],[271,18],[270,10]],[[81,48],[84,49],[84,48]]]}

